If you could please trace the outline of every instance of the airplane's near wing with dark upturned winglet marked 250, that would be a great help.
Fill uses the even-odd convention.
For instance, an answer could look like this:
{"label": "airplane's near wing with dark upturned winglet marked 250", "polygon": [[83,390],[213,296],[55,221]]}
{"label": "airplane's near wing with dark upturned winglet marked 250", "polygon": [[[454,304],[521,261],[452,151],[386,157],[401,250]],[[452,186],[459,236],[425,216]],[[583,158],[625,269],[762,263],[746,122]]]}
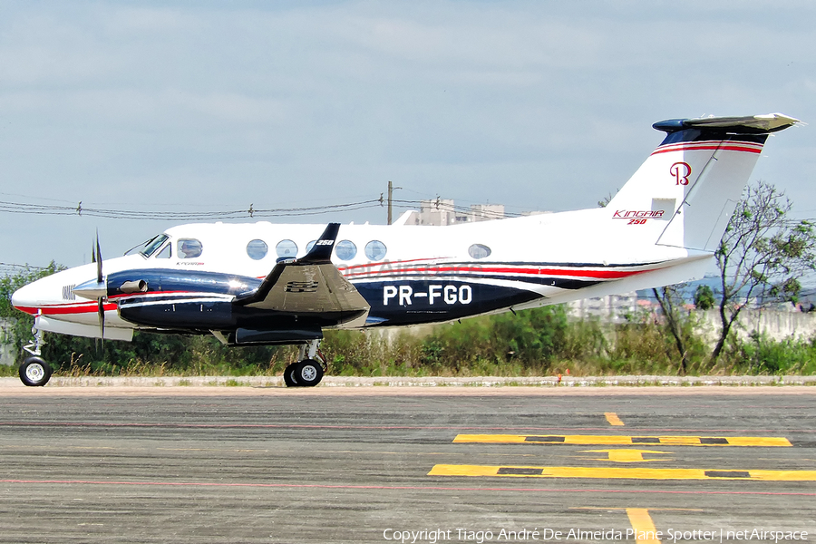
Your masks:
{"label": "airplane's near wing with dark upturned winglet marked 250", "polygon": [[337,324],[366,315],[370,306],[331,261],[339,229],[329,223],[306,256],[277,263],[257,289],[236,296],[233,304]]}

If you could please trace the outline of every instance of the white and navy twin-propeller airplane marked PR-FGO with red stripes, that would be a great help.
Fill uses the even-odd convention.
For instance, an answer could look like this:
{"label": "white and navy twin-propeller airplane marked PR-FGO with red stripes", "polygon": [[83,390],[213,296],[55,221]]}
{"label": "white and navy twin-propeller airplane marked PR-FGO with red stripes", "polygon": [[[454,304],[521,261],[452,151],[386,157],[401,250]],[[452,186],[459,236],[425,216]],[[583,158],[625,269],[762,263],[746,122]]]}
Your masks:
{"label": "white and navy twin-propeller airplane marked PR-FGO with red stripes", "polygon": [[[780,113],[661,121],[665,132],[606,208],[450,227],[191,224],[132,255],[22,287],[26,385],[44,385],[43,331],[130,341],[134,330],[227,345],[301,345],[284,372],[313,386],[325,328],[453,321],[704,275]],[[103,264],[103,266],[102,266]]]}

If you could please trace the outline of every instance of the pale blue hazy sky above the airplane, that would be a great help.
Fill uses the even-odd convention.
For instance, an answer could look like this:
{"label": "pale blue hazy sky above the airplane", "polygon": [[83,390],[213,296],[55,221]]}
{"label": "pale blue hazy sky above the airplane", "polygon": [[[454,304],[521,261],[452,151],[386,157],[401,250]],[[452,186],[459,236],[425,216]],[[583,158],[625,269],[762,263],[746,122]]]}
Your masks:
{"label": "pale blue hazy sky above the airplane", "polygon": [[[97,231],[114,257],[185,212],[363,202],[389,180],[401,200],[592,208],[660,143],[656,121],[816,123],[811,0],[0,0],[0,14],[0,201],[140,212],[0,209],[2,263],[75,266]],[[816,217],[814,167],[802,125],[769,140],[753,179]],[[368,206],[265,219],[384,224]],[[139,219],[156,212],[180,217]]]}

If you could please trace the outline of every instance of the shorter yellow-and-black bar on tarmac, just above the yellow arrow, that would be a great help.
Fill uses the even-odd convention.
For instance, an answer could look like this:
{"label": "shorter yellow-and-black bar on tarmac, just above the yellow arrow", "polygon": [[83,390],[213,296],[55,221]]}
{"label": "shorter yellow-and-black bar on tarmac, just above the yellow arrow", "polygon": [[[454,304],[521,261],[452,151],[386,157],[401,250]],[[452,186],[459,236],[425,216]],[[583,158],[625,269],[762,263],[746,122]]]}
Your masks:
{"label": "shorter yellow-and-black bar on tarmac, just above the yellow arrow", "polygon": [[781,436],[618,436],[598,434],[458,434],[453,442],[538,443],[603,446],[661,444],[668,446],[763,446],[791,447]]}

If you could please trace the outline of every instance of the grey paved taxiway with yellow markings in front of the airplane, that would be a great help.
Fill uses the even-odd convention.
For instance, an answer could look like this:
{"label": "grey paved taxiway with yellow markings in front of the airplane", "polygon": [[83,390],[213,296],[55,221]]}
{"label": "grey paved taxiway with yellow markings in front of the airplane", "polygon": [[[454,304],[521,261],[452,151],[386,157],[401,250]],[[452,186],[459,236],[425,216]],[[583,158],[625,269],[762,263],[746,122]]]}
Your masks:
{"label": "grey paved taxiway with yellow markings in front of the airplane", "polygon": [[811,387],[0,394],[2,542],[816,539]]}

